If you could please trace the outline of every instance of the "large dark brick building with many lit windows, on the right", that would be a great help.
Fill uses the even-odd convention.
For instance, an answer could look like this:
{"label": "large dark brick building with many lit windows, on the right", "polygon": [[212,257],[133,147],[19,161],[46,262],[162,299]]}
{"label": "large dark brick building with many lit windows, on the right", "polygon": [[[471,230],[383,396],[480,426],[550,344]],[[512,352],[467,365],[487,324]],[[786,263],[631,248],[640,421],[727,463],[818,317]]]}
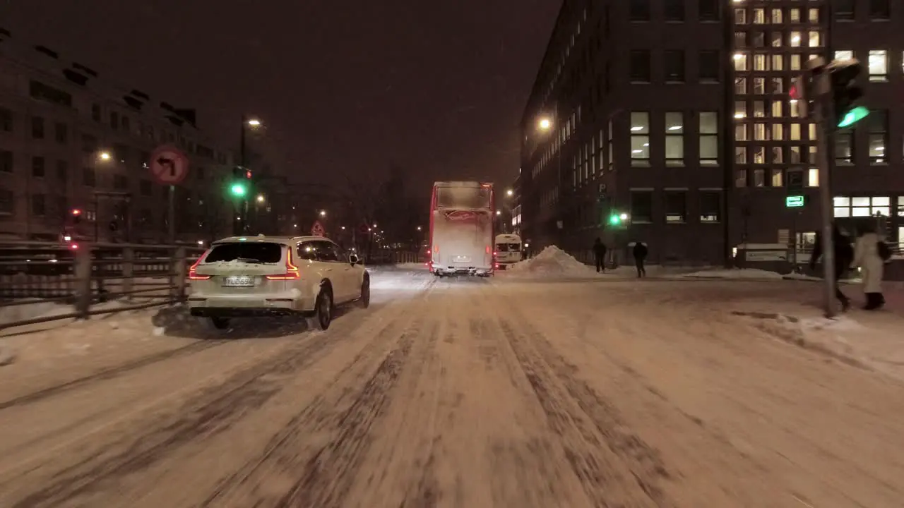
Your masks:
{"label": "large dark brick building with many lit windows, on the right", "polygon": [[[904,9],[890,4],[566,1],[522,121],[525,236],[572,252],[599,236],[622,254],[640,240],[655,262],[697,264],[812,241],[820,133],[788,92],[822,56],[862,61],[871,108],[827,140],[835,216],[882,214],[904,240]],[[789,172],[804,174],[801,209],[785,207]]]}

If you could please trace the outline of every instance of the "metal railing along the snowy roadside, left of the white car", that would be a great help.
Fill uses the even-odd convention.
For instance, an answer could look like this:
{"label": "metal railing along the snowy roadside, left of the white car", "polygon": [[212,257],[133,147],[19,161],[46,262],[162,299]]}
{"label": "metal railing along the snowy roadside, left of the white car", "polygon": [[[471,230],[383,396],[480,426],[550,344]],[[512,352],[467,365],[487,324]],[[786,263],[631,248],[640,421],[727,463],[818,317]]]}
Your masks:
{"label": "metal railing along the snowy roadside, left of the white car", "polygon": [[[0,329],[181,302],[189,263],[202,252],[182,245],[0,241],[0,311],[41,304],[63,309],[7,319]],[[117,305],[99,306],[112,301]]]}

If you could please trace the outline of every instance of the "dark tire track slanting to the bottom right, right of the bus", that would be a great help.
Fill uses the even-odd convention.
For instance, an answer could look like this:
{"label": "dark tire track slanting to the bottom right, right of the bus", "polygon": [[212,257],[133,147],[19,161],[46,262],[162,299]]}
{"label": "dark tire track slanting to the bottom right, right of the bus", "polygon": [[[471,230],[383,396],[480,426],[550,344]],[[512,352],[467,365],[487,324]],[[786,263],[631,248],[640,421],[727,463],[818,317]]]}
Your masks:
{"label": "dark tire track slanting to the bottom right, right of the bus", "polygon": [[[504,301],[501,299],[501,301]],[[671,507],[659,486],[669,479],[659,453],[626,430],[614,405],[577,379],[575,368],[535,331],[530,319],[504,301],[512,319],[499,318],[571,469],[595,506]],[[519,323],[521,325],[515,325]]]}

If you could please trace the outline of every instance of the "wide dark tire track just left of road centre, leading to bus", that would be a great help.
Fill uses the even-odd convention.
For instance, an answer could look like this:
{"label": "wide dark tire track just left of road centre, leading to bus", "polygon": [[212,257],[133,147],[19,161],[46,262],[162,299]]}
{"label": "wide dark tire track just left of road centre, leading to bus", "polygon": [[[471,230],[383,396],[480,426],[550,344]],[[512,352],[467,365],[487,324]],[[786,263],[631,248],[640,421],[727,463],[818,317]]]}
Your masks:
{"label": "wide dark tire track just left of road centre, leading to bus", "polygon": [[[431,280],[428,287],[434,283]],[[223,478],[200,506],[342,507],[371,446],[370,430],[390,403],[400,373],[407,363],[411,366],[407,360],[429,317],[427,313],[405,314],[406,319],[384,327],[335,376],[330,389],[271,437],[260,456]],[[398,339],[391,341],[395,334]],[[428,344],[435,343],[437,335],[438,325],[434,324],[429,328]],[[387,341],[392,343],[391,351],[374,368],[373,361],[380,358]],[[417,363],[413,368],[419,372]],[[347,407],[337,409],[346,403]],[[329,436],[325,444],[311,449],[311,437],[325,433]]]}

